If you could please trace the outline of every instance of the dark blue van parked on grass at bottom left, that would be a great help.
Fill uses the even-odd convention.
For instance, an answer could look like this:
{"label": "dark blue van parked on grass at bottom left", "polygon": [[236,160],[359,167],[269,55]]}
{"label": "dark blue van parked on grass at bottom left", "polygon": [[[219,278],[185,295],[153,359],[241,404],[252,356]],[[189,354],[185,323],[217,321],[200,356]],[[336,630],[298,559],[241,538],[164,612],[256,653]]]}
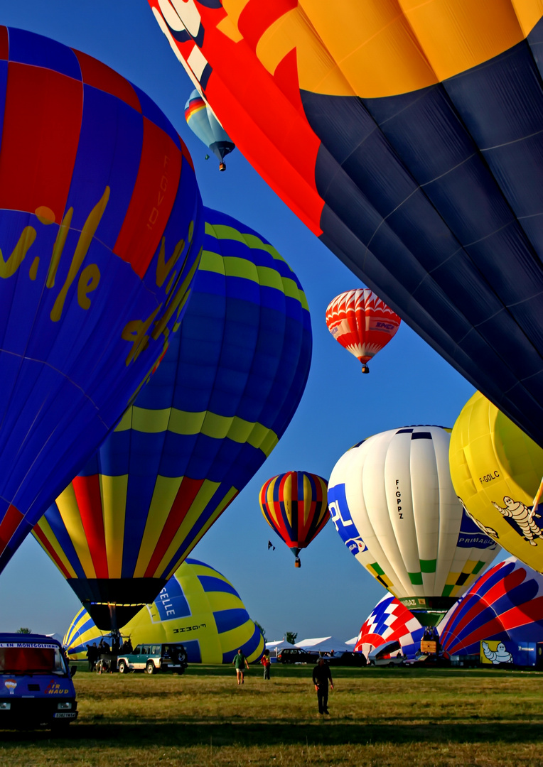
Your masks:
{"label": "dark blue van parked on grass at bottom left", "polygon": [[59,729],[78,716],[75,667],[41,634],[0,634],[0,728]]}

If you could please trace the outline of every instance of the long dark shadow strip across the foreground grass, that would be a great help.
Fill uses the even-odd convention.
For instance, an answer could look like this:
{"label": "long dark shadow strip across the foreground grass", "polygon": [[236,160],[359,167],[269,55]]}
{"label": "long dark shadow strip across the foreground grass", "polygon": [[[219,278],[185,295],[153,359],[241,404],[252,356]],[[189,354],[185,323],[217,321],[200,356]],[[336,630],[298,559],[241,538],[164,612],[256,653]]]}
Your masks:
{"label": "long dark shadow strip across the foreground grass", "polygon": [[[317,719],[318,717],[318,719]],[[438,719],[427,719],[422,724],[360,724],[321,719],[316,715],[314,724],[284,723],[277,726],[248,724],[243,719],[213,726],[201,723],[157,723],[144,721],[137,724],[91,724],[78,723],[63,733],[48,730],[28,732],[2,732],[3,746],[41,746],[55,748],[65,745],[89,748],[99,742],[100,748],[125,746],[177,747],[190,746],[366,746],[369,744],[402,745],[411,742],[425,743],[534,743],[543,744],[543,725],[531,725],[529,729],[518,722],[463,723],[442,725]]]}

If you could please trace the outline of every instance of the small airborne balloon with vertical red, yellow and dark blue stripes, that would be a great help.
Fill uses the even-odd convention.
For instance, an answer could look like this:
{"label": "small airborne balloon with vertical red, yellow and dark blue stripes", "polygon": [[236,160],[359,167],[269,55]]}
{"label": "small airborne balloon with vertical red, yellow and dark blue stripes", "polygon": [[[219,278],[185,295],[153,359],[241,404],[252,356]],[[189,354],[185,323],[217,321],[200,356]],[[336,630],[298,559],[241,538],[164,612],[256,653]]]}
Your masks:
{"label": "small airborne balloon with vertical red, yellow and dark blue stripes", "polygon": [[296,557],[301,567],[301,549],[309,546],[328,522],[326,479],[308,472],[286,472],[264,482],[260,509],[270,528]]}

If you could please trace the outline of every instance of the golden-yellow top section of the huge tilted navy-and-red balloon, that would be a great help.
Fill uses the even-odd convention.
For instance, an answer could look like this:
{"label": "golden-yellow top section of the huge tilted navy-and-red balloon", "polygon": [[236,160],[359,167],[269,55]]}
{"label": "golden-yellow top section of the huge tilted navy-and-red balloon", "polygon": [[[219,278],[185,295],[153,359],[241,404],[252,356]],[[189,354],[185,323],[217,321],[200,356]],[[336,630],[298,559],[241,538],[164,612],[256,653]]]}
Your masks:
{"label": "golden-yellow top section of the huge tilted navy-and-red balloon", "polygon": [[303,91],[386,97],[483,64],[520,42],[541,15],[540,0],[300,0],[263,31],[256,52],[274,74],[295,49]]}

